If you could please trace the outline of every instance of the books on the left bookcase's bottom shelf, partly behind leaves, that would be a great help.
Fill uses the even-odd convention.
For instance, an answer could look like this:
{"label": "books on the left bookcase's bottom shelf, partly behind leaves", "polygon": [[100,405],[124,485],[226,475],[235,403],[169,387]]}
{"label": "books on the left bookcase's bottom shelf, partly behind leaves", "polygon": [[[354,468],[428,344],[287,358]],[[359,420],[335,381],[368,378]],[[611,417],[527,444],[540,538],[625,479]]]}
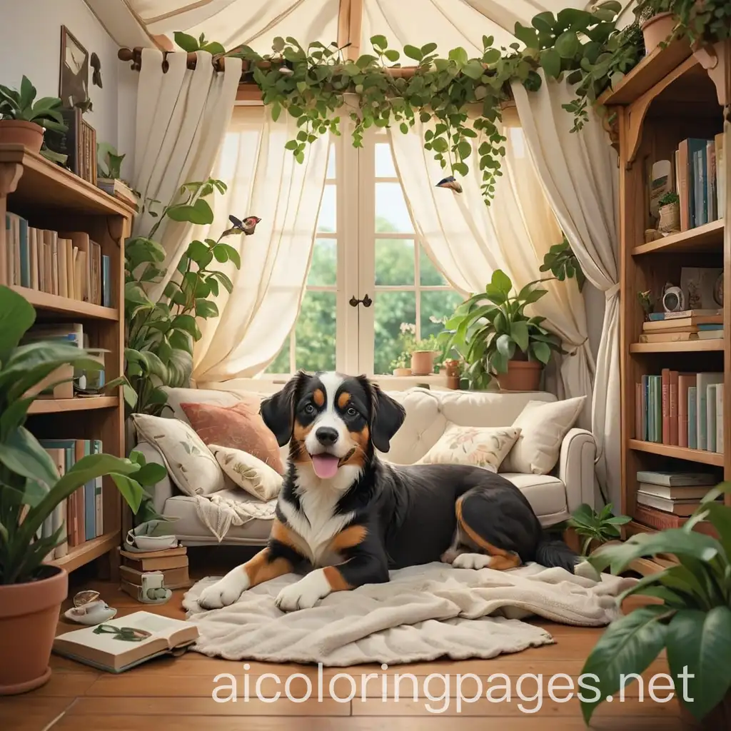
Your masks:
{"label": "books on the left bookcase's bottom shelf, partly behind leaves", "polygon": [[[101,454],[100,439],[41,439],[40,444],[53,460],[58,474],[63,476],[80,459]],[[53,515],[45,520],[39,537],[53,535],[59,528],[64,530],[66,542],[58,546],[47,560],[63,558],[69,548],[104,535],[104,514],[102,510],[102,478],[94,477],[78,488],[56,507]]]}

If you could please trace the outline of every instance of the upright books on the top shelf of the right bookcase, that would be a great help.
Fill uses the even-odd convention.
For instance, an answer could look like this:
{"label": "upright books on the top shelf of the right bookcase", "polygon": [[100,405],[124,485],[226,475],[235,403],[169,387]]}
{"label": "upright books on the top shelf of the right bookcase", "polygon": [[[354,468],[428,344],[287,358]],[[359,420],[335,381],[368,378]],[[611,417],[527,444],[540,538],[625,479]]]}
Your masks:
{"label": "upright books on the top shelf of the right bookcase", "polygon": [[675,151],[675,190],[680,197],[681,231],[722,219],[726,200],[723,135],[691,137]]}

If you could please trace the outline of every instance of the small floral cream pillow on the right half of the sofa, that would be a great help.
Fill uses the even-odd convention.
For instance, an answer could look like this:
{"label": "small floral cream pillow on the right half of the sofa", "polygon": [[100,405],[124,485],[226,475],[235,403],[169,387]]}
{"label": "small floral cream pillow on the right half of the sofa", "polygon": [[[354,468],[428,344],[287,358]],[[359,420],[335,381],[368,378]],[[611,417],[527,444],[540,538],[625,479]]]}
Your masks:
{"label": "small floral cream pillow on the right half of the sofa", "polygon": [[520,429],[512,426],[459,426],[447,428],[417,464],[469,464],[497,471]]}

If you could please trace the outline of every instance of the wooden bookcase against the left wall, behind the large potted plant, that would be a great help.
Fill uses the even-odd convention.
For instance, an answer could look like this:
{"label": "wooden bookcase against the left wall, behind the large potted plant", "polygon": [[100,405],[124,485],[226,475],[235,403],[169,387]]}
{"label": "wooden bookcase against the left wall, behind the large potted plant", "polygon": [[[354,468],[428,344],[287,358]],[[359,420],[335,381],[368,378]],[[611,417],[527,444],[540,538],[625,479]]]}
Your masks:
{"label": "wooden bookcase against the left wall, behind the large potted plant", "polygon": [[[92,348],[105,349],[107,381],[123,373],[124,239],[134,211],[124,202],[20,145],[0,145],[0,251],[7,251],[5,213],[17,213],[31,227],[88,233],[110,257],[111,307],[13,286],[35,308],[37,322],[80,322]],[[7,283],[6,283],[7,284]],[[124,456],[121,387],[102,396],[39,398],[29,409],[28,428],[39,439],[100,439],[105,453]],[[104,558],[115,575],[121,543],[122,506],[115,485],[102,487],[104,533],[69,548],[53,564],[71,572]]]}

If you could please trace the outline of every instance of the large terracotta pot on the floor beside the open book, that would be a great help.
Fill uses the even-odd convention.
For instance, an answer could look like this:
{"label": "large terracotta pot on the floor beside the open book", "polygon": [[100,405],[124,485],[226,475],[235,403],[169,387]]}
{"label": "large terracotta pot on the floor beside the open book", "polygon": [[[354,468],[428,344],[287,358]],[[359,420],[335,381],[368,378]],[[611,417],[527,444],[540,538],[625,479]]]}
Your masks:
{"label": "large terracotta pot on the floor beside the open book", "polygon": [[0,585],[0,695],[16,695],[50,678],[50,648],[69,575],[48,567],[45,578]]}

